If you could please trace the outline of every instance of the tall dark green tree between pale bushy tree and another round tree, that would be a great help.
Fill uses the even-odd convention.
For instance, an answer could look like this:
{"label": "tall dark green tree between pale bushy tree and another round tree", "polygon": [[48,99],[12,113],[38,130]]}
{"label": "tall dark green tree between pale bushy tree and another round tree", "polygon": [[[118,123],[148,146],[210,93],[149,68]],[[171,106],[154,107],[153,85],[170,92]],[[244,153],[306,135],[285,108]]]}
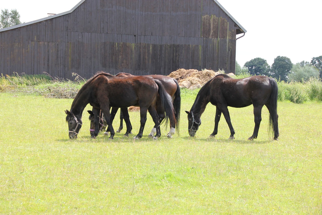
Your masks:
{"label": "tall dark green tree between pale bushy tree and another round tree", "polygon": [[287,74],[291,71],[293,64],[291,59],[285,56],[277,56],[270,69],[270,75],[277,80],[287,80]]}

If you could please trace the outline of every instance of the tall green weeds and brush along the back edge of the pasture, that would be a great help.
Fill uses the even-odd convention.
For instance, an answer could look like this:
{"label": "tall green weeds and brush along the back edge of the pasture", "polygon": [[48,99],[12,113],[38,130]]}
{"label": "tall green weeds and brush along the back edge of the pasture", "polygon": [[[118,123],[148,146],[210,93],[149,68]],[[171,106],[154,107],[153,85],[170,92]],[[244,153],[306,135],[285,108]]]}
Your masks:
{"label": "tall green weeds and brush along the back edge of the pasture", "polygon": [[[243,78],[249,75],[237,75],[236,78]],[[78,74],[73,73],[75,79],[65,80],[43,75],[25,75],[17,73],[14,76],[0,76],[0,92],[22,92],[25,94],[38,94],[51,98],[74,98],[81,86],[86,82]],[[322,101],[322,81],[317,78],[309,78],[302,82],[278,81],[279,101],[290,101],[302,104],[306,101]],[[182,88],[188,94],[197,94],[199,88],[189,90]]]}

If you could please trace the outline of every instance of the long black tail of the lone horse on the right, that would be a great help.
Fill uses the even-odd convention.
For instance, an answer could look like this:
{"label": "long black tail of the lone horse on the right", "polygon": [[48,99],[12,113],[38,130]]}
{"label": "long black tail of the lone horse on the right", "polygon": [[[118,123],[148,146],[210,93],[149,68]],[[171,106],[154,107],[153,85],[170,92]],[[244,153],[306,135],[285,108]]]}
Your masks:
{"label": "long black tail of the lone horse on the right", "polygon": [[277,140],[279,137],[279,124],[278,118],[279,115],[277,114],[277,98],[278,98],[278,87],[275,79],[269,79],[270,86],[272,87],[272,92],[270,94],[270,106],[269,106],[269,113],[270,113],[270,120],[269,120],[269,131],[272,133],[274,131],[274,139]]}

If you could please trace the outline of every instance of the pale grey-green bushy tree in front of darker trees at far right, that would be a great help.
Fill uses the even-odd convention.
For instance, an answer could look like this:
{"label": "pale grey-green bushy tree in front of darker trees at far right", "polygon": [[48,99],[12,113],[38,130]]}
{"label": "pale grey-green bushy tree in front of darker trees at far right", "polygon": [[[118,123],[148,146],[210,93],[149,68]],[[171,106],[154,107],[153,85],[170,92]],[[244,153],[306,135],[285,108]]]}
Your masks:
{"label": "pale grey-green bushy tree in front of darker trees at far right", "polygon": [[307,81],[310,77],[319,78],[319,71],[310,64],[301,67],[301,64],[297,63],[293,65],[288,81],[302,82]]}

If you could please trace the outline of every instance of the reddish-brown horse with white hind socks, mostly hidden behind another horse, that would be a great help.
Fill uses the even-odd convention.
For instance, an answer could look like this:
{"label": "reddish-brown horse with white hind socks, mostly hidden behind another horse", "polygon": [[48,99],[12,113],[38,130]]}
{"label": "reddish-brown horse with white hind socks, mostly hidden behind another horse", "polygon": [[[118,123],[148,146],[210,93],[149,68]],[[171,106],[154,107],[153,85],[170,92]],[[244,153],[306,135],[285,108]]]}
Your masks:
{"label": "reddish-brown horse with white hind socks, mostly hidden behind another horse", "polygon": [[[131,75],[129,73],[123,73],[123,72],[118,73],[115,76],[116,77],[135,77],[134,75]],[[172,97],[173,106],[175,109],[175,119],[176,119],[175,126],[178,131],[179,119],[180,119],[180,108],[181,108],[181,96],[180,96],[180,87],[179,87],[177,80],[175,80],[174,78],[168,77],[168,76],[163,76],[163,75],[147,75],[144,77],[150,77],[150,78],[154,78],[156,80],[159,80],[163,84],[166,92]],[[160,102],[161,102],[160,98],[158,97],[158,99],[156,101],[156,111],[159,116],[159,122],[161,123],[163,121],[163,119],[165,118],[165,113],[160,106],[160,104],[161,104]],[[118,111],[118,108],[115,108],[115,107],[112,108],[112,110],[110,112],[111,122],[113,122],[113,119],[114,119],[117,111]],[[123,119],[123,112],[124,112],[124,110],[122,110],[120,113],[120,126],[119,126],[117,132],[120,132],[123,128],[123,120],[122,120]],[[131,122],[128,120],[128,122],[126,122],[126,123],[127,123],[127,125],[129,125],[129,127],[130,127],[129,129],[131,130],[132,129]],[[91,124],[91,127],[94,127],[94,125]],[[156,134],[156,129],[157,128],[154,127],[148,136],[153,137],[154,134]],[[107,128],[105,134],[107,132],[109,132],[109,128]],[[171,127],[170,131],[167,134],[167,137],[171,138],[174,133],[175,133],[175,128]],[[128,136],[128,135],[126,135],[126,136]]]}

